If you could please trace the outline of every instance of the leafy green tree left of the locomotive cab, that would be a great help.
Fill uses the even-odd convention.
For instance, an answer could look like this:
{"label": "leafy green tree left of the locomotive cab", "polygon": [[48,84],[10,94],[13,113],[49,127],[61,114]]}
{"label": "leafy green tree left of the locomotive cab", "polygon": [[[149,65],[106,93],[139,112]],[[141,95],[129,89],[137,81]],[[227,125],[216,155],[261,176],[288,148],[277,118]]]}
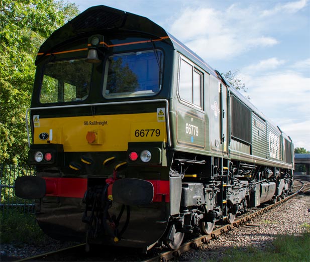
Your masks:
{"label": "leafy green tree left of the locomotive cab", "polygon": [[0,0],[0,159],[25,163],[25,112],[30,106],[40,45],[78,14],[75,4],[56,0]]}

